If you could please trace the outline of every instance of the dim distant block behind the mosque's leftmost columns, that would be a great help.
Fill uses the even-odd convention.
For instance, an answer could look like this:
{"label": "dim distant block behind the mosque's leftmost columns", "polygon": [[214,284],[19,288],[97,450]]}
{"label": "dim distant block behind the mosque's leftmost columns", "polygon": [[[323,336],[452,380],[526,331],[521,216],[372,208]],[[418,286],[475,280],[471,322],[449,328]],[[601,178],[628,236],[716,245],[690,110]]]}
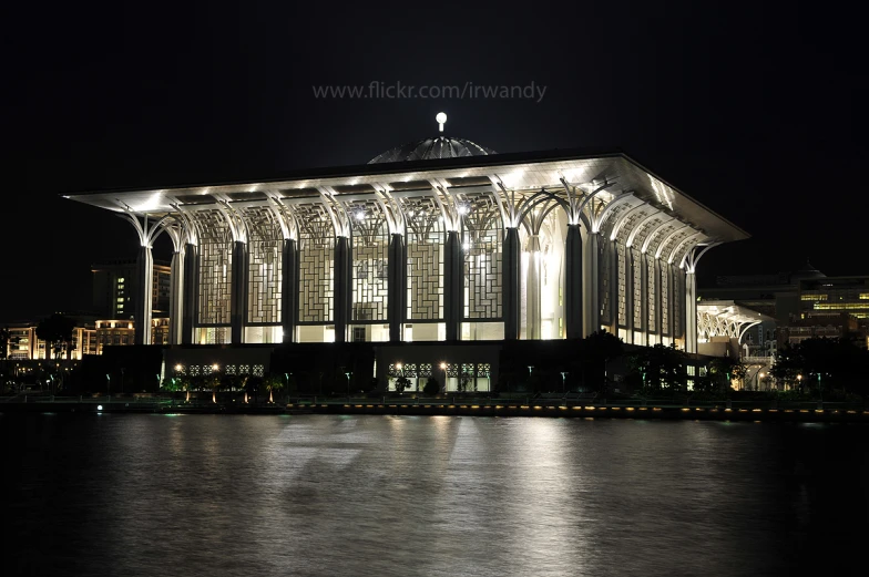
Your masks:
{"label": "dim distant block behind the mosque's leftmost columns", "polygon": [[[139,300],[136,260],[114,259],[91,266],[93,272],[93,310],[104,319],[131,319]],[[168,317],[171,268],[167,262],[154,261],[151,281],[152,317]]]}

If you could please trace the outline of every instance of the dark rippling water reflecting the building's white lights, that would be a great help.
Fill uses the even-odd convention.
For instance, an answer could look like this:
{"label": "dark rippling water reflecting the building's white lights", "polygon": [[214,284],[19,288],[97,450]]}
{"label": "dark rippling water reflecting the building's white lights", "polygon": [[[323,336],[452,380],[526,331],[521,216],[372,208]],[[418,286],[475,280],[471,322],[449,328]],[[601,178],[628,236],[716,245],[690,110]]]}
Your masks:
{"label": "dark rippling water reflecting the building's white lights", "polygon": [[0,415],[3,575],[866,574],[869,427]]}

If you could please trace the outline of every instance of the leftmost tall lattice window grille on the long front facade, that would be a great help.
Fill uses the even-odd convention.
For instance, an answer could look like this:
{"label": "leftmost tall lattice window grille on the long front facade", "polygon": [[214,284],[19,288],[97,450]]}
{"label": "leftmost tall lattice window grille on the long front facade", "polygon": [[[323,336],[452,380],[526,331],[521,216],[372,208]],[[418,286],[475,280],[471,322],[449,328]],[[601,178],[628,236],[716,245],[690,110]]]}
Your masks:
{"label": "leftmost tall lattice window grille on the long front facade", "polygon": [[219,210],[194,213],[200,229],[201,324],[229,324],[233,236]]}

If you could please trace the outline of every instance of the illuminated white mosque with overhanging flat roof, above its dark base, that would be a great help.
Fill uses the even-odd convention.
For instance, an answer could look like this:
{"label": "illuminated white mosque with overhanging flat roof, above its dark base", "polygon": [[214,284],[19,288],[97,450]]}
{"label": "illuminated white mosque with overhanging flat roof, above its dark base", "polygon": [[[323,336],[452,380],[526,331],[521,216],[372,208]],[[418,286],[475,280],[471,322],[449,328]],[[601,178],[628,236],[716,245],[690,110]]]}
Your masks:
{"label": "illuminated white mosque with overhanging flat roof, above its dark base", "polygon": [[[439,137],[377,161],[71,198],[126,216],[140,278],[151,278],[154,238],[172,238],[170,342],[187,344],[564,339],[605,328],[696,352],[697,262],[747,238],[622,153],[498,155]],[[141,293],[136,326],[147,327],[151,291]]]}

